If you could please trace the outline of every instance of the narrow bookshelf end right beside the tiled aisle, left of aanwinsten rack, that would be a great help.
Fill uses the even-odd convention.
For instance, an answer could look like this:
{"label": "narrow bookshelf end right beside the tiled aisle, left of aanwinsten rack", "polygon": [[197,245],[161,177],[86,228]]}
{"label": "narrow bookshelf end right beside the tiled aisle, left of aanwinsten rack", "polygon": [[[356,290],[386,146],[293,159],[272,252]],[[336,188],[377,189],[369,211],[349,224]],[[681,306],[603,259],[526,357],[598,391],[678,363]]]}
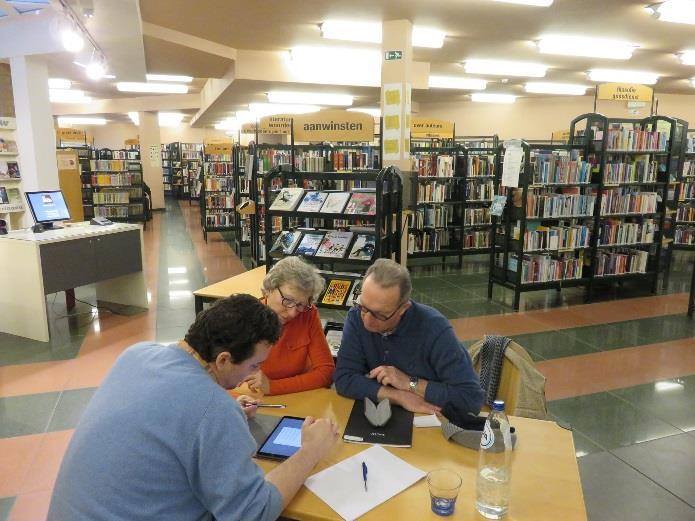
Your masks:
{"label": "narrow bookshelf end right beside the tiled aisle, left of aanwinsten rack", "polygon": [[234,231],[236,228],[233,173],[231,147],[205,147],[203,182],[200,189],[205,242],[208,240],[209,232]]}

